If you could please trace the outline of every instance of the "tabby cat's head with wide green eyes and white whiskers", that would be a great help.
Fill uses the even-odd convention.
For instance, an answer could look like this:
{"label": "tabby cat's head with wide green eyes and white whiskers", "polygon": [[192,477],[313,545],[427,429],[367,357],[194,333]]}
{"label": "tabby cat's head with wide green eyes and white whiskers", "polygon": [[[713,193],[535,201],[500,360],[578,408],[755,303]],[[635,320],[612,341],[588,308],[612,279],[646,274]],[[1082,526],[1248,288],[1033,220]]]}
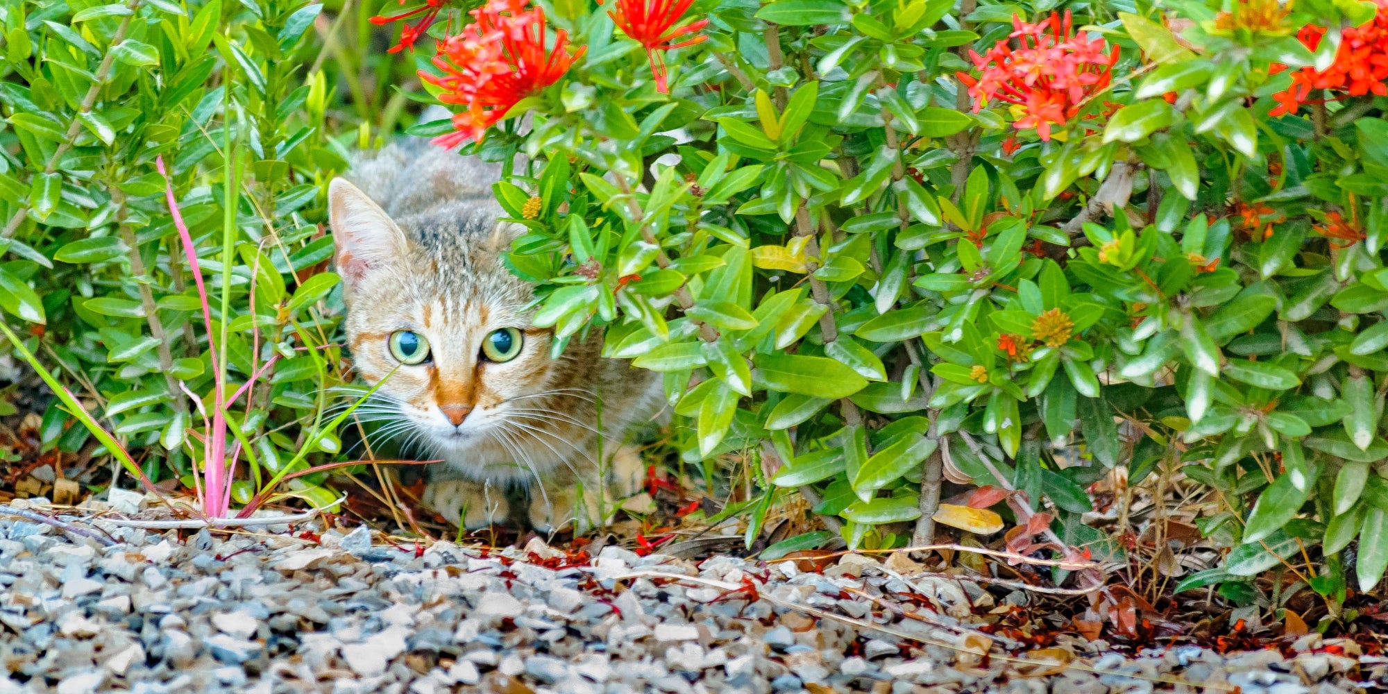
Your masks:
{"label": "tabby cat's head with wide green eyes and white whiskers", "polygon": [[386,379],[364,418],[479,477],[583,439],[547,411],[583,408],[583,365],[597,358],[580,344],[550,358],[552,333],[526,311],[532,286],[502,265],[523,228],[497,215],[459,201],[393,219],[350,182],[329,186],[354,366]]}

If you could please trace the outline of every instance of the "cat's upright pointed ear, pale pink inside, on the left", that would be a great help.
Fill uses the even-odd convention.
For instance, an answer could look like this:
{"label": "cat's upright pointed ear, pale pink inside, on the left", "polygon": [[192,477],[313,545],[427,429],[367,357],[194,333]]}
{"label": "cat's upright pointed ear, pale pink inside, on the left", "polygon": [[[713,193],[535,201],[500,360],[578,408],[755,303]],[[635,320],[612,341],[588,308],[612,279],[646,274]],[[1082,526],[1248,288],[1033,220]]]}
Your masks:
{"label": "cat's upright pointed ear, pale pink inside, on the left", "polygon": [[328,223],[333,229],[335,264],[350,293],[366,275],[398,262],[405,235],[366,193],[347,179],[328,185]]}

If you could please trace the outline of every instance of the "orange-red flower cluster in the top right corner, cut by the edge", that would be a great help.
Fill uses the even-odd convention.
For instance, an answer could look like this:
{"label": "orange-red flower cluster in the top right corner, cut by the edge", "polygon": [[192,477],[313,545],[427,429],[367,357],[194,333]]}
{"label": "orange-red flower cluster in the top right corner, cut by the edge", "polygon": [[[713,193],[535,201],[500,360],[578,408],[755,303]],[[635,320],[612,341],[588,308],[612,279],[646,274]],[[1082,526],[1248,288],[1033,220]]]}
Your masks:
{"label": "orange-red flower cluster in the top right corner, cut by the edge", "polygon": [[[1277,107],[1269,115],[1295,114],[1302,104],[1310,101],[1313,89],[1330,89],[1349,96],[1388,96],[1388,86],[1384,85],[1384,79],[1388,79],[1388,0],[1374,3],[1378,4],[1378,14],[1371,21],[1363,26],[1346,26],[1341,32],[1335,62],[1324,72],[1312,67],[1292,72],[1292,86],[1273,94]],[[1320,46],[1323,36],[1326,29],[1316,25],[1306,25],[1296,32],[1296,37],[1310,50]]]}

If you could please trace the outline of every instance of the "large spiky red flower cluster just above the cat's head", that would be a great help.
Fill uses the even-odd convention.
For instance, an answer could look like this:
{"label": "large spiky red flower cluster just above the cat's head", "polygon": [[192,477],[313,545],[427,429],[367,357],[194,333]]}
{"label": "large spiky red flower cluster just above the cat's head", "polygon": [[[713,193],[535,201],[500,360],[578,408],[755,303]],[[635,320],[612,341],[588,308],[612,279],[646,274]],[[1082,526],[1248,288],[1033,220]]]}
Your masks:
{"label": "large spiky red flower cluster just above the cat's head", "polygon": [[433,139],[457,147],[480,142],[487,128],[522,99],[555,83],[584,49],[565,50],[568,32],[559,29],[545,47],[544,10],[529,0],[489,0],[471,14],[476,22],[439,44],[433,64],[443,75],[419,71],[419,78],[444,90],[439,100],[466,107],[454,114],[455,132]]}

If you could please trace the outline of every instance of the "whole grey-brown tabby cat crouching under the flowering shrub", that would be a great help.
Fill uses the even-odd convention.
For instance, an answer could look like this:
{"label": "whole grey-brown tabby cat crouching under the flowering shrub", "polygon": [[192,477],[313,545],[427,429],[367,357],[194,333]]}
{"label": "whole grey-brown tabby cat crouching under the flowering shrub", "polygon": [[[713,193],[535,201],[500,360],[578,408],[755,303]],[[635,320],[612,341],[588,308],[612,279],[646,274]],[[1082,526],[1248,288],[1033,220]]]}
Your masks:
{"label": "whole grey-brown tabby cat crouching under the flowering shrub", "polygon": [[380,383],[358,412],[418,459],[441,459],[423,502],[450,522],[582,532],[640,489],[641,461],[622,443],[658,414],[662,389],[602,358],[601,330],[551,359],[554,335],[527,311],[533,286],[502,264],[525,226],[500,221],[500,175],[407,140],[329,183],[347,346],[362,380]]}

